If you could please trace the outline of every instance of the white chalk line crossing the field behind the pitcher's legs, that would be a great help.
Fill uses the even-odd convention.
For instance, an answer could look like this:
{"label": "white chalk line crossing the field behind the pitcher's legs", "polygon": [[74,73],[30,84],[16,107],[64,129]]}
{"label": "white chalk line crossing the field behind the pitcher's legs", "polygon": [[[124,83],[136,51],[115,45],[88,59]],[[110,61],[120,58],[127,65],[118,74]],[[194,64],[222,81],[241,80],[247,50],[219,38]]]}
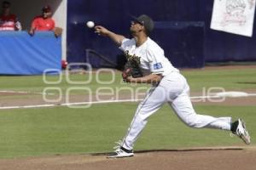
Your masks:
{"label": "white chalk line crossing the field behind the pitcher's legs", "polygon": [[[256,94],[247,94],[245,92],[224,92],[209,96],[194,96],[190,99],[213,99],[213,98],[240,98],[256,96]],[[45,104],[45,105],[16,105],[16,106],[3,106],[0,110],[8,109],[28,109],[28,108],[40,108],[40,107],[55,107],[55,106],[68,106],[68,105],[96,105],[96,104],[108,104],[108,103],[124,103],[124,102],[138,102],[143,99],[116,99],[116,100],[101,100],[101,101],[88,101],[88,102],[76,102],[76,103],[62,103],[62,104]]]}

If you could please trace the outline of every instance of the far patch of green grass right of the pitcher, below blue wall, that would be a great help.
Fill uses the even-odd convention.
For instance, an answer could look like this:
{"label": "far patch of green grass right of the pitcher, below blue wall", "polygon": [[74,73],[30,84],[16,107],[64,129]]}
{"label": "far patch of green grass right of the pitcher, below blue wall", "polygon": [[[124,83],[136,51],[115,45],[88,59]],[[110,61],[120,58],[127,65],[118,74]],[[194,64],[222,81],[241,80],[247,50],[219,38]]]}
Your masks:
{"label": "far patch of green grass right of the pitcher, below blue wall", "polygon": [[200,91],[202,87],[223,87],[228,90],[254,89],[256,69],[231,70],[195,70],[182,71],[188,79],[192,90]]}

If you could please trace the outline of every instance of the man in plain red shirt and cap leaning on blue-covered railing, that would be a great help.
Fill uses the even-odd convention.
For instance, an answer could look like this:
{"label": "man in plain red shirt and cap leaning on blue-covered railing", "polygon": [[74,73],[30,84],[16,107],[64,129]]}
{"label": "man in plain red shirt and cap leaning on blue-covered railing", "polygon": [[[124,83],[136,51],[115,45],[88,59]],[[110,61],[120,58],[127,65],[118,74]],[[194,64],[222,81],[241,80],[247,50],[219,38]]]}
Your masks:
{"label": "man in plain red shirt and cap leaning on blue-covered railing", "polygon": [[34,34],[35,31],[55,31],[55,20],[51,18],[51,9],[49,5],[42,8],[43,14],[32,20],[32,26],[29,33]]}

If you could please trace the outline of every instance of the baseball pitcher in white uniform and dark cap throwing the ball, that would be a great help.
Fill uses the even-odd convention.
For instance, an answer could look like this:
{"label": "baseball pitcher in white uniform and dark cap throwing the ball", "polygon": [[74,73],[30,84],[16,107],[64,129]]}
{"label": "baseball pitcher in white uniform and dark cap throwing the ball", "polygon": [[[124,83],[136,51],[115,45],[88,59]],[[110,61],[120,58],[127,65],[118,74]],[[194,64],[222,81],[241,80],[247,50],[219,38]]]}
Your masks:
{"label": "baseball pitcher in white uniform and dark cap throwing the ball", "polygon": [[241,119],[232,122],[231,117],[212,117],[195,113],[189,99],[189,85],[186,79],[165,57],[164,50],[148,37],[153,29],[154,21],[145,14],[131,21],[130,31],[133,37],[131,39],[115,34],[102,26],[95,27],[97,34],[110,37],[125,53],[139,57],[143,77],[123,74],[125,82],[152,83],[152,88],[137,107],[125,138],[108,158],[134,156],[133,145],[146,126],[148,117],[165,103],[168,103],[180,120],[189,127],[231,131],[246,144],[250,144],[249,133],[245,122]]}

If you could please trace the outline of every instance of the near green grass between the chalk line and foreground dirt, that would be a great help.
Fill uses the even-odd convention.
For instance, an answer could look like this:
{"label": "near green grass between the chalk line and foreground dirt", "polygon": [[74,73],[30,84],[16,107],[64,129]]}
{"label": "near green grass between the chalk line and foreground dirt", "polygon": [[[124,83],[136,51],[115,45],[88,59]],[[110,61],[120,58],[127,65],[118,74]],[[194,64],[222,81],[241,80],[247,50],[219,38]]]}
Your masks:
{"label": "near green grass between the chalk line and foreground dirt", "polygon": [[[108,152],[129,127],[137,104],[93,105],[89,109],[66,107],[1,111],[0,157],[46,156]],[[256,138],[255,108],[197,106],[199,113],[242,117]],[[229,133],[186,127],[168,105],[154,116],[136,144],[136,150],[242,144]],[[253,142],[253,144],[255,144]]]}

